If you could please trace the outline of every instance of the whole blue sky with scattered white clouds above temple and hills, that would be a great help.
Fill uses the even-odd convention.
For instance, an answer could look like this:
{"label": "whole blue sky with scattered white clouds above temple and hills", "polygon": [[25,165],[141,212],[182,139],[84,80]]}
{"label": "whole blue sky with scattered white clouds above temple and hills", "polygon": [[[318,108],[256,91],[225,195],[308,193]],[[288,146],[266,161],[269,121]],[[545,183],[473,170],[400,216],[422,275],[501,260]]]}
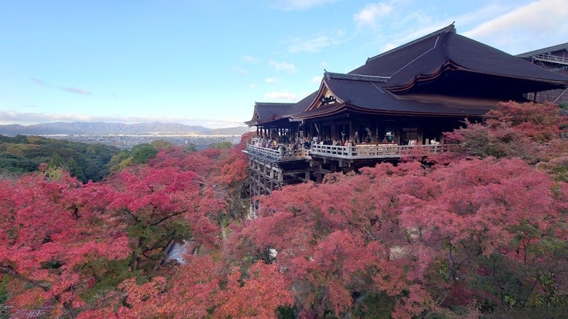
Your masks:
{"label": "whole blue sky with scattered white clouds above temple and hills", "polygon": [[[454,23],[517,55],[568,42],[568,0],[0,0],[0,124],[244,125],[324,71]],[[455,21],[455,22],[454,22]]]}

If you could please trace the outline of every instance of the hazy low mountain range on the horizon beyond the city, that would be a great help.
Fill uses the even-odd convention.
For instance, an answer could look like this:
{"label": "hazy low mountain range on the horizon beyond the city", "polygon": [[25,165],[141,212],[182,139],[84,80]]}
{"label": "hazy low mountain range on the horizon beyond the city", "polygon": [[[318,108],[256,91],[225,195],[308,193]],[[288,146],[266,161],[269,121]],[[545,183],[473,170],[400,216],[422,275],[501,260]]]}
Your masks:
{"label": "hazy low mountain range on the horizon beyond the city", "polygon": [[35,125],[0,125],[0,135],[108,135],[146,133],[195,133],[200,135],[242,135],[248,128],[205,128],[200,125],[178,123],[107,123],[107,122],[55,122]]}

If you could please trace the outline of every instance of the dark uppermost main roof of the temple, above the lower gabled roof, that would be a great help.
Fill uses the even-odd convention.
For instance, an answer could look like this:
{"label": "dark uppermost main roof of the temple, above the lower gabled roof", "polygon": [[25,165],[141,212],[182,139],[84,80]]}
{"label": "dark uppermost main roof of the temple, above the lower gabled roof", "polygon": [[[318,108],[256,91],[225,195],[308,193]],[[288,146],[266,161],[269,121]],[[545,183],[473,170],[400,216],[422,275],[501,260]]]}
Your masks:
{"label": "dark uppermost main roof of the temple, above the lower gabled roof", "polygon": [[466,72],[493,74],[503,78],[568,84],[568,77],[528,63],[494,47],[455,33],[452,25],[413,42],[371,57],[353,74],[391,77],[390,89],[407,89],[420,77],[452,68]]}

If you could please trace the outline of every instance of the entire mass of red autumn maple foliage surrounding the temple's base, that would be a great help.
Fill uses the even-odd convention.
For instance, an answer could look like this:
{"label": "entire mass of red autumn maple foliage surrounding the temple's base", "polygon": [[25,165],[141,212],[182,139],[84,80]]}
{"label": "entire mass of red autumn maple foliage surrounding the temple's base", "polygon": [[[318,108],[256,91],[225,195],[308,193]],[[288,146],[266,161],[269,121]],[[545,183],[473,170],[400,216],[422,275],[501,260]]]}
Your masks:
{"label": "entire mass of red autumn maple foliage surrounding the temple's base", "polygon": [[[0,302],[78,318],[562,318],[568,147],[502,103],[451,152],[285,186],[246,216],[244,142],[82,184],[0,181]],[[187,240],[185,263],[166,262]],[[4,299],[2,299],[4,298]]]}

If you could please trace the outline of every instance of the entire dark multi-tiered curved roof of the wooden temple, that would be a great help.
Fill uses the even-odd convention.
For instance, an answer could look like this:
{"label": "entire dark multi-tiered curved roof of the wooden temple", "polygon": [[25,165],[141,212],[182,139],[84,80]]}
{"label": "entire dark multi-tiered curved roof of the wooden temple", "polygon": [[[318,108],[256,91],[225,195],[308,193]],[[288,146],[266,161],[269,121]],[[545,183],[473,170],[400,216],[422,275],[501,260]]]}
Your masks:
{"label": "entire dark multi-tiered curved roof of the wooden temple", "polygon": [[256,118],[246,123],[342,111],[483,116],[499,101],[567,86],[567,76],[458,35],[452,24],[371,57],[348,74],[324,72],[320,89],[298,103],[256,103]]}

